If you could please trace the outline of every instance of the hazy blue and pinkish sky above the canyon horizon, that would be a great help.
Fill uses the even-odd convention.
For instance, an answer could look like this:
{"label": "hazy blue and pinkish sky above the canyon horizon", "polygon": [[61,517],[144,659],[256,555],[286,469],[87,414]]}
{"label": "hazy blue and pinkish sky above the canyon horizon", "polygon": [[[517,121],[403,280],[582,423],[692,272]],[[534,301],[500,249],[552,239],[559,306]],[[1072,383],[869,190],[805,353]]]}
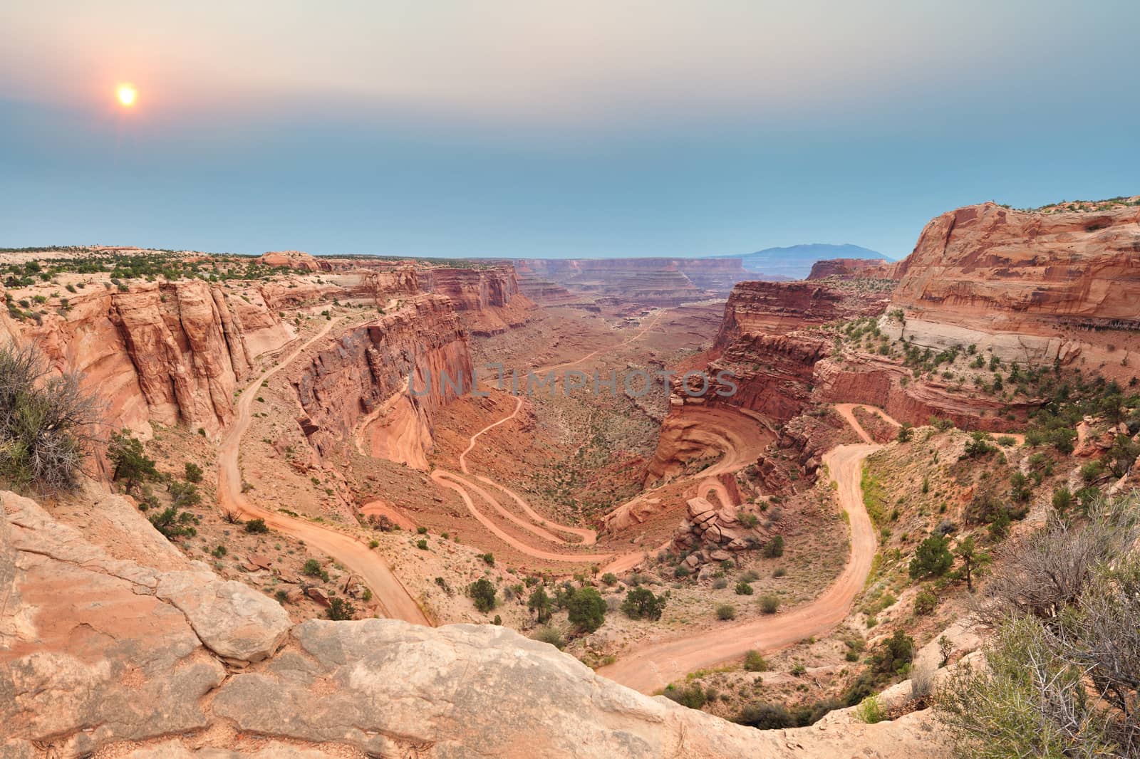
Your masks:
{"label": "hazy blue and pinkish sky above the canyon horizon", "polygon": [[1138,39],[1134,0],[3,2],[0,246],[899,256],[1140,193]]}

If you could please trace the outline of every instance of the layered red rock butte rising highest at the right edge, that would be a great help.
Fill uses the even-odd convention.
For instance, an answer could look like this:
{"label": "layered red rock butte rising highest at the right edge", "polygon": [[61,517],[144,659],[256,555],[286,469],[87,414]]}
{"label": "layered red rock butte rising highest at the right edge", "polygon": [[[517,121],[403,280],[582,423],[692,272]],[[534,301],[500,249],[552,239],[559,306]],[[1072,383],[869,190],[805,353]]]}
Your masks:
{"label": "layered red rock butte rising highest at the right edge", "polygon": [[958,209],[926,226],[898,272],[891,308],[905,324],[885,319],[888,334],[1064,362],[1140,328],[1140,207]]}

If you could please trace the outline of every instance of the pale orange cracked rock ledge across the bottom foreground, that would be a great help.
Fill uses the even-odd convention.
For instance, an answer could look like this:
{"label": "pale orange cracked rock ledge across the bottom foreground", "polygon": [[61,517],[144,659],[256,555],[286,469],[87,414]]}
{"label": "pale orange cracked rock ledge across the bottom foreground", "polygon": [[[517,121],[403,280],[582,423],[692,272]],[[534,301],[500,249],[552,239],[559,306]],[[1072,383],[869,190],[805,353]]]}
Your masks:
{"label": "pale orange cracked rock ledge across the bottom foreground", "polygon": [[276,602],[245,586],[112,558],[35,503],[0,500],[3,758],[938,753],[921,712],[755,731],[630,691],[502,627],[287,630]]}

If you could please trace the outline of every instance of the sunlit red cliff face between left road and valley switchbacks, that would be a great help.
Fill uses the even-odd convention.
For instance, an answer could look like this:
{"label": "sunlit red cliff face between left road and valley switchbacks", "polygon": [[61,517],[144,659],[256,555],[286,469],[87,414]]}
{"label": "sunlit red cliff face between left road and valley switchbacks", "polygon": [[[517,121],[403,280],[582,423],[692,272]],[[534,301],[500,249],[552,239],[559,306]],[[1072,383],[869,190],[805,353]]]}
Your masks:
{"label": "sunlit red cliff face between left road and valley switchbacks", "polygon": [[418,295],[291,372],[299,424],[320,454],[359,439],[365,452],[426,468],[433,413],[470,390],[473,368],[451,300]]}

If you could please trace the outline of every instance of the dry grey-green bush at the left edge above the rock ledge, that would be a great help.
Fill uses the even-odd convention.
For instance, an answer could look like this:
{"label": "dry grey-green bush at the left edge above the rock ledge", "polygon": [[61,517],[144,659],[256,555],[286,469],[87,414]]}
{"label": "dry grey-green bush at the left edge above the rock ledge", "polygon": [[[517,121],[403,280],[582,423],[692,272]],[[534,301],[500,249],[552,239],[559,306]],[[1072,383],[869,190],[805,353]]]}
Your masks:
{"label": "dry grey-green bush at the left edge above the rock ledge", "polygon": [[0,348],[0,480],[9,487],[74,489],[100,416],[78,374],[48,376],[34,348]]}

